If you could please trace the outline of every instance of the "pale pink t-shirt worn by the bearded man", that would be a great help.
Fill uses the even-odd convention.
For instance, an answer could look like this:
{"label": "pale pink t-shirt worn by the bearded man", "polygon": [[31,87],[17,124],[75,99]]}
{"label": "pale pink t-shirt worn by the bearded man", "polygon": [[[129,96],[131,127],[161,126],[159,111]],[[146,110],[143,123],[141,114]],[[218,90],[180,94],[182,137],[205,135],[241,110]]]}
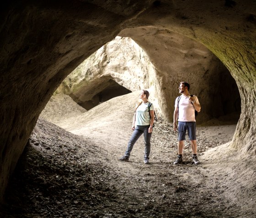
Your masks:
{"label": "pale pink t-shirt worn by the bearded man", "polygon": [[[193,96],[196,100],[196,103],[199,104],[197,96]],[[175,100],[175,107],[178,106],[178,97]],[[179,102],[179,114],[178,121],[181,122],[196,122],[195,117],[195,108],[192,105],[191,101],[188,100],[188,96],[181,95]]]}

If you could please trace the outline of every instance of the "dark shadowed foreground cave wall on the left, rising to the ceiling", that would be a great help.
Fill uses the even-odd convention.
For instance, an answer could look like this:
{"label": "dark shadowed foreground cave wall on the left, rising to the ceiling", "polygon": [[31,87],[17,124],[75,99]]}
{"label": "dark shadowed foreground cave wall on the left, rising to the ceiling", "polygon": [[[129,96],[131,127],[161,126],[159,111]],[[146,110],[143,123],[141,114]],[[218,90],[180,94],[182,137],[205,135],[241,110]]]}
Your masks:
{"label": "dark shadowed foreground cave wall on the left, rising to the ceiling", "polygon": [[[141,4],[142,3],[142,4]],[[64,78],[148,2],[4,1],[0,13],[0,201],[37,118]],[[113,6],[114,5],[114,6]],[[147,6],[146,6],[147,7]]]}

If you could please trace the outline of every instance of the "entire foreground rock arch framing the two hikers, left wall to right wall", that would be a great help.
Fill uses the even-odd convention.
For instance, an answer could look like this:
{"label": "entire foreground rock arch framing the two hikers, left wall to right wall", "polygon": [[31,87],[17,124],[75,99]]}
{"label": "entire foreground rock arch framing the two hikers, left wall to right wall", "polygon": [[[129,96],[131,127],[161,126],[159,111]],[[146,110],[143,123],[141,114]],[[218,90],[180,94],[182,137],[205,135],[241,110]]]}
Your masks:
{"label": "entire foreground rock arch framing the two hikers, left wall to right wall", "polygon": [[255,1],[4,1],[0,10],[0,200],[53,92],[124,29],[157,26],[212,51],[229,69],[241,97],[230,146],[256,154]]}

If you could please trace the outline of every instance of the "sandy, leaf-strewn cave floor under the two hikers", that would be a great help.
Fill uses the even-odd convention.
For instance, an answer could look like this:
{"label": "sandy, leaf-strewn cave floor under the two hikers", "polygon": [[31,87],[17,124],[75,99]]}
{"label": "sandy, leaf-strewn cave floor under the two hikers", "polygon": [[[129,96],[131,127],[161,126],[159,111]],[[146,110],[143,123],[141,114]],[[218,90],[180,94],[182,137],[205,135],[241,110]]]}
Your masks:
{"label": "sandy, leaf-strewn cave floor under the two hikers", "polygon": [[[134,94],[128,95],[125,102],[133,105],[127,99],[134,99]],[[142,138],[135,144],[130,162],[120,162],[118,157],[132,133],[133,113],[127,107],[113,114],[112,105],[121,107],[122,99],[114,98],[89,112],[76,106],[74,114],[69,97],[53,97],[17,165],[1,217],[255,217],[255,159],[242,164],[243,157],[228,147],[235,124],[214,120],[212,126],[197,127],[202,163],[192,164],[187,141],[184,164],[174,166],[176,133],[172,124],[159,117],[150,164],[143,163]],[[69,109],[59,107],[63,104]],[[115,127],[110,123],[113,117]]]}

